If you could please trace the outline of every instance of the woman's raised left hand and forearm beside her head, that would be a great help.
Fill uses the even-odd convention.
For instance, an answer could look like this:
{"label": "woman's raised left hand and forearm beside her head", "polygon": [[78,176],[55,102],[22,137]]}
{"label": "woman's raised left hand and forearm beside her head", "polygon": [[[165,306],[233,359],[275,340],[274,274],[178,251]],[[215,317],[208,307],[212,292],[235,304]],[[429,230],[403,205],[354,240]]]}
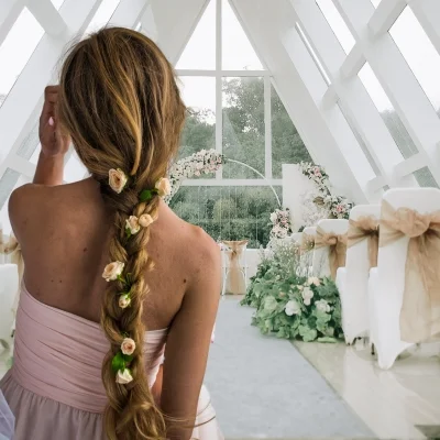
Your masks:
{"label": "woman's raised left hand and forearm beside her head", "polygon": [[58,86],[44,90],[44,106],[40,117],[40,142],[42,151],[36,165],[34,184],[62,185],[64,156],[70,145],[70,138],[62,134],[57,118]]}

